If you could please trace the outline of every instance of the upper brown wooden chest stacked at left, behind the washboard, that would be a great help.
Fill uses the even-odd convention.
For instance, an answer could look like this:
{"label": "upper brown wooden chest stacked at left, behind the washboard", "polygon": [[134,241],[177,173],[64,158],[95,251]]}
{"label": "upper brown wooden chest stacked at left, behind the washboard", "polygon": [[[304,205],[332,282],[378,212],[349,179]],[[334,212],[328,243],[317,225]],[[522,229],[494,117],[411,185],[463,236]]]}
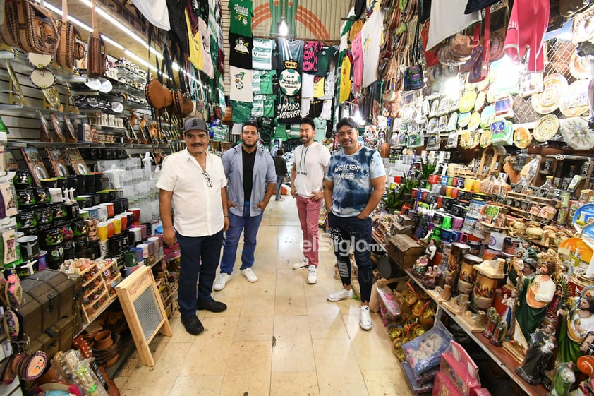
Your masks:
{"label": "upper brown wooden chest stacked at left, behind the washboard", "polygon": [[20,325],[19,338],[34,340],[60,318],[74,316],[75,284],[64,272],[50,269],[23,280],[23,301],[15,310]]}

